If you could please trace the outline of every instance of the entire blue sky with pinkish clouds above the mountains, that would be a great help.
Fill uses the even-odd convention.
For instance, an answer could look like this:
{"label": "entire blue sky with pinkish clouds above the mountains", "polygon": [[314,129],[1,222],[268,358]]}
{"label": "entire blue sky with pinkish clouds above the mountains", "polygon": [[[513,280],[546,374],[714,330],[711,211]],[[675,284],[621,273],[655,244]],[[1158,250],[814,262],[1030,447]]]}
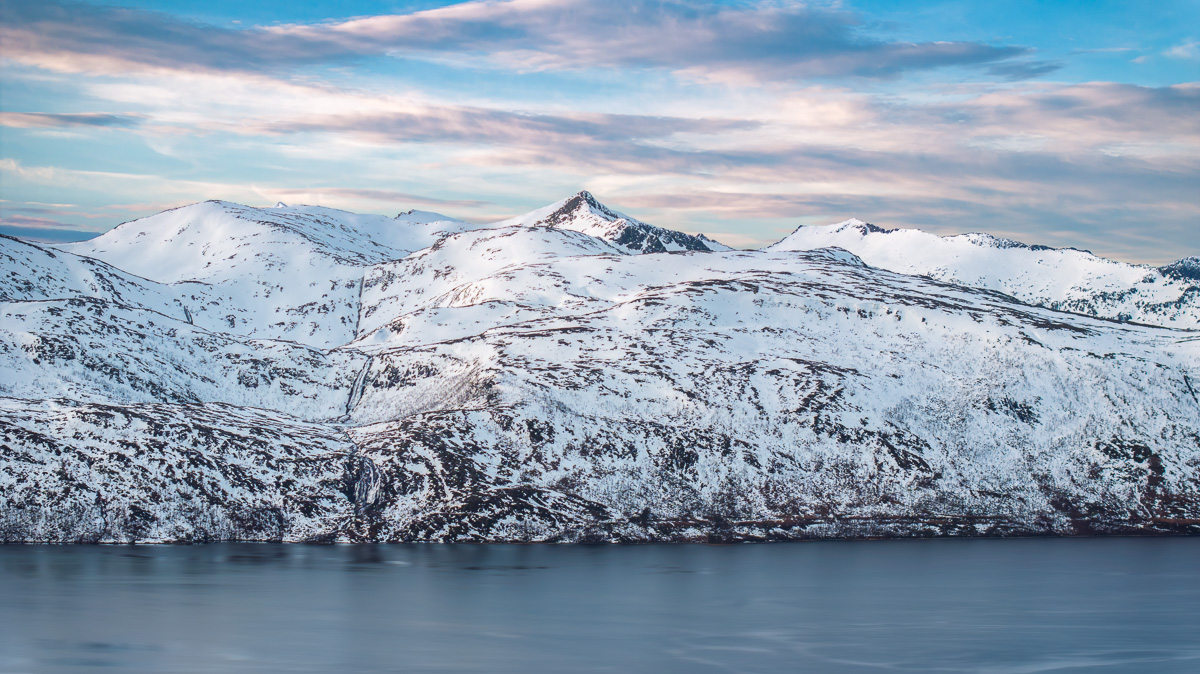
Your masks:
{"label": "entire blue sky with pinkish clouds above the mountains", "polygon": [[1200,255],[1200,0],[0,0],[0,233],[588,189],[738,247],[857,217]]}

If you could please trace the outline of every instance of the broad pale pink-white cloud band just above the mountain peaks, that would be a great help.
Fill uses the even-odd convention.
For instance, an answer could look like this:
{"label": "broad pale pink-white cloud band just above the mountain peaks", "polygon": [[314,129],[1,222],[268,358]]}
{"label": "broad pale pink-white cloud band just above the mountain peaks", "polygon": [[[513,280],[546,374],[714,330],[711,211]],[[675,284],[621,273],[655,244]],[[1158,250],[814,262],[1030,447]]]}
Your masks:
{"label": "broad pale pink-white cloud band just above the mountain peaks", "polygon": [[[197,88],[192,79],[162,82],[184,91]],[[736,199],[714,206],[738,218],[781,217],[785,209],[797,216],[817,207],[821,198],[899,200],[914,193],[996,207],[1038,203],[1045,212],[1052,212],[1056,201],[1087,209],[1090,200],[1100,206],[1138,204],[1147,213],[1183,212],[1187,199],[1181,195],[1193,191],[1189,185],[1200,171],[1200,86],[1194,85],[984,86],[964,90],[953,102],[810,88],[769,104],[748,101],[740,113],[736,106],[719,109],[728,119],[686,119],[455,107],[288,83],[260,89],[260,98],[234,110],[197,108],[179,120],[160,120],[160,115],[179,114],[176,98],[148,86],[127,92],[162,101],[161,112],[146,113],[140,133],[162,127],[188,137],[203,132],[210,134],[205,145],[230,143],[211,134],[235,134],[239,139],[232,143],[262,149],[268,164],[278,162],[275,152],[281,148],[302,149],[305,162],[338,155],[372,167],[376,174],[389,167],[384,170],[394,175],[430,176],[426,185],[445,176],[454,176],[458,185],[438,187],[431,195],[444,199],[421,200],[413,194],[419,189],[409,187],[414,185],[410,177],[398,179],[403,181],[398,185],[409,187],[400,192],[367,174],[344,179],[361,188],[305,188],[293,182],[250,191],[246,185],[215,181],[64,174],[11,161],[7,168],[42,185],[90,187],[115,181],[130,187],[140,183],[139,194],[271,203],[301,199],[352,209],[361,203],[398,201],[448,209],[451,215],[454,209],[478,212],[480,183],[487,185],[486,197],[502,204],[512,199],[505,195],[504,185],[522,180],[577,185],[622,175],[644,185],[672,177],[691,188],[746,194],[787,186],[776,189],[791,197],[776,199],[770,209],[763,203],[734,207]],[[736,119],[739,114],[752,119]],[[318,170],[322,164],[312,166]],[[547,192],[547,197],[559,194]],[[1190,209],[1198,210],[1194,199]]]}

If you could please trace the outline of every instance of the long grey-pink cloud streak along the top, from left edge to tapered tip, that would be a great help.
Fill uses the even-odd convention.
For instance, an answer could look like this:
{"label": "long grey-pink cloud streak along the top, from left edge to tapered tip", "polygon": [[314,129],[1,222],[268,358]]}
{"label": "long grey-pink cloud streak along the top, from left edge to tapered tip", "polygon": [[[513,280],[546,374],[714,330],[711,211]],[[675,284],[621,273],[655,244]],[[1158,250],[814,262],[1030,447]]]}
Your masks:
{"label": "long grey-pink cloud streak along the top, from left edge to tapered tip", "polygon": [[0,0],[0,40],[10,59],[68,72],[274,72],[391,54],[523,70],[881,78],[1030,53],[974,42],[888,41],[870,35],[851,12],[791,1],[475,0],[408,14],[250,29],[54,0]]}

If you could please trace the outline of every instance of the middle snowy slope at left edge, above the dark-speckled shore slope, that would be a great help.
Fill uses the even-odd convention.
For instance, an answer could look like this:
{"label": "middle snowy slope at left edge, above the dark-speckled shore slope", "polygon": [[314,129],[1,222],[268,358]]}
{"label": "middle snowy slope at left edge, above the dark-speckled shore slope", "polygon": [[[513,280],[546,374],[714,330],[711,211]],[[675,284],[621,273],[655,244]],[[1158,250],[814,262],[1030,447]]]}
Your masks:
{"label": "middle snowy slope at left edge, above the dark-speckled shore slope", "polygon": [[103,300],[0,303],[0,396],[13,398],[221,402],[328,420],[346,413],[362,361]]}

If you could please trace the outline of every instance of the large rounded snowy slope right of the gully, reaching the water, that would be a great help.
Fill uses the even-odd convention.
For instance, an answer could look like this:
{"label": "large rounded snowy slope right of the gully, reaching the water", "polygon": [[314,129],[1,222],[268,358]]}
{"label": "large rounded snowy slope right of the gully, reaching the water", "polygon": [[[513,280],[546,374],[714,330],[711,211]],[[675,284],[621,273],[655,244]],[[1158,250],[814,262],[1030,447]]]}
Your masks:
{"label": "large rounded snowy slope right of the gully, reaching the water", "polygon": [[352,537],[1130,532],[1198,513],[1186,333],[821,252],[670,261],[542,263],[526,271],[631,282],[599,311],[376,354],[350,434],[383,487]]}

